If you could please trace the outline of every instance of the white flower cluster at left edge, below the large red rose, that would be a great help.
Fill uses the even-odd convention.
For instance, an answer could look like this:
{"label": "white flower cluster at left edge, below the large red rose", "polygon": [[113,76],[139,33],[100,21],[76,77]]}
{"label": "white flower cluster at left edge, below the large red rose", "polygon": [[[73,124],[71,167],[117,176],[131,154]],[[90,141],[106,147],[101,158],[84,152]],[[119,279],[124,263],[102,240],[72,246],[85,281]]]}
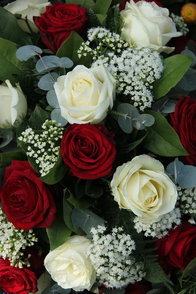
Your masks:
{"label": "white flower cluster at left edge, below the large red rose", "polygon": [[[26,246],[34,245],[37,242],[33,230],[17,230],[15,226],[7,220],[6,215],[0,208],[0,256],[8,258],[10,265],[23,268],[23,265],[30,266],[27,259],[23,256]],[[28,256],[30,257],[30,256]]]}

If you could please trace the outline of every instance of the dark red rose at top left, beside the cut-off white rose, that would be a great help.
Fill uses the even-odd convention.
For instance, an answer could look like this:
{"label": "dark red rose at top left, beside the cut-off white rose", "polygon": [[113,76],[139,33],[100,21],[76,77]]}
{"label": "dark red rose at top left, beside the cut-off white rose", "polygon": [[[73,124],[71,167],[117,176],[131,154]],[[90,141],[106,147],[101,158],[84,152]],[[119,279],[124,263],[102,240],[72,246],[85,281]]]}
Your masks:
{"label": "dark red rose at top left, beside the cut-off white rose", "polygon": [[33,17],[35,25],[40,31],[43,43],[56,52],[63,42],[69,38],[72,30],[83,33],[88,21],[86,8],[75,4],[56,2],[46,6],[46,12]]}

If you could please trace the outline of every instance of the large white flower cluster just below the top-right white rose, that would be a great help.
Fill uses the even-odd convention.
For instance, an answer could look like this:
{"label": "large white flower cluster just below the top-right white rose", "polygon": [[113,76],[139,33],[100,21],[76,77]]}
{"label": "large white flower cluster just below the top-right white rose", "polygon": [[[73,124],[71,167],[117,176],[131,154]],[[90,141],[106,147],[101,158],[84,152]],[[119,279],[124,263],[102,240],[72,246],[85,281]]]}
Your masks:
{"label": "large white flower cluster just below the top-right white rose", "polygon": [[157,51],[148,47],[135,47],[123,50],[120,56],[113,52],[100,57],[92,64],[103,64],[117,80],[116,91],[129,95],[134,106],[141,111],[151,107],[153,96],[152,83],[161,77],[164,70],[162,58]]}

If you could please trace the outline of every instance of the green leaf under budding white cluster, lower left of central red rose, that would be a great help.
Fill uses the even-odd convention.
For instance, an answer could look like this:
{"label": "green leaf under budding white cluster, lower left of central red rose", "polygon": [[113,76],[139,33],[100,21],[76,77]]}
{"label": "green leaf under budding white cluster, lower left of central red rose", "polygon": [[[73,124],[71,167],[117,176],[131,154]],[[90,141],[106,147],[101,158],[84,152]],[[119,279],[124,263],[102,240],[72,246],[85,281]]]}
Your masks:
{"label": "green leaf under budding white cluster, lower left of central red rose", "polygon": [[41,176],[39,180],[45,182],[48,185],[54,185],[60,182],[67,172],[67,168],[64,165],[61,151],[59,151],[58,160],[53,168],[44,176]]}

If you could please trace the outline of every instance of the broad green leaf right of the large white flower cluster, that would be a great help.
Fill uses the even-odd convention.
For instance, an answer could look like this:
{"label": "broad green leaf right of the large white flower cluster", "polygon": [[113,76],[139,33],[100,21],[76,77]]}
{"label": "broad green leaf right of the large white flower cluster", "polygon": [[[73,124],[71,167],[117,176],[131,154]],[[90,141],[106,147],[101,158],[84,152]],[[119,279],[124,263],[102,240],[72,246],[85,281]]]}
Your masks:
{"label": "broad green leaf right of the large white flower cluster", "polygon": [[193,58],[183,54],[173,55],[163,60],[165,70],[159,80],[153,83],[154,99],[166,95],[189,69]]}

